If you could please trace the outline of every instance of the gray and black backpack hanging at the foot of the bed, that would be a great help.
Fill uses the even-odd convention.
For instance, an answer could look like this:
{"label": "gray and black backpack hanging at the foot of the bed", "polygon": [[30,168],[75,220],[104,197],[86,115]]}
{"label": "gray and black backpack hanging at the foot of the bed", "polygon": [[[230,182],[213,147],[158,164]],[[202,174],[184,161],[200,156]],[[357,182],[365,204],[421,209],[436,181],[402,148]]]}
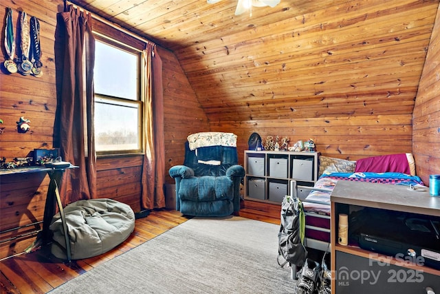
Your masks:
{"label": "gray and black backpack hanging at the foot of the bed", "polygon": [[[304,246],[305,214],[303,203],[292,196],[284,196],[281,205],[281,227],[278,233],[278,264],[303,266],[307,258]],[[283,257],[285,262],[280,262]]]}

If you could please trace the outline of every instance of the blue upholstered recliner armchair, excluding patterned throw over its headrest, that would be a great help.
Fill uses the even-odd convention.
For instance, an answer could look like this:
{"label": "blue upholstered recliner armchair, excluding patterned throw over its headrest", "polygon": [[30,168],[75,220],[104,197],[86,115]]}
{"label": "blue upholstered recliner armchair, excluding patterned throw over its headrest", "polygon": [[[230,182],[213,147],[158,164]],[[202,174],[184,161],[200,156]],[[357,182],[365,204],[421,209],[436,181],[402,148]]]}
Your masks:
{"label": "blue upholstered recliner armchair, excluding patterned throw over its headrest", "polygon": [[184,165],[171,167],[176,182],[176,210],[188,216],[229,216],[240,209],[236,147],[208,146],[191,150],[185,143]]}

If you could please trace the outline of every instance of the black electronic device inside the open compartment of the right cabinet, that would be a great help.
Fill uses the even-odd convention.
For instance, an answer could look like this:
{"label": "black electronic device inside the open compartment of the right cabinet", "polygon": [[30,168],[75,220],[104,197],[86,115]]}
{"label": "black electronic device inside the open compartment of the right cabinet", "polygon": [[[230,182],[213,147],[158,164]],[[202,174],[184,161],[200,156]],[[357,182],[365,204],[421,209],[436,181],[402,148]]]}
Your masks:
{"label": "black electronic device inside the open compartment of the right cabinet", "polygon": [[391,256],[397,262],[440,269],[440,218],[411,213],[372,217],[359,230],[362,249]]}

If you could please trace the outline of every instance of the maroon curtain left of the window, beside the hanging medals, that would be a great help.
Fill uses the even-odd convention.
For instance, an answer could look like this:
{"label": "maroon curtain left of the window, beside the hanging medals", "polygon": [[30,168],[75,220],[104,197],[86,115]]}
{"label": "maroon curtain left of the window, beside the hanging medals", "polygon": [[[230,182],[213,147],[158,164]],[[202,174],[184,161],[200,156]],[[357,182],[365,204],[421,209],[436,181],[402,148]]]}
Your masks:
{"label": "maroon curtain left of the window, beside the hanging medals", "polygon": [[57,110],[54,147],[63,160],[78,166],[63,176],[63,204],[96,198],[94,147],[95,39],[91,16],[73,6],[58,13],[55,32]]}

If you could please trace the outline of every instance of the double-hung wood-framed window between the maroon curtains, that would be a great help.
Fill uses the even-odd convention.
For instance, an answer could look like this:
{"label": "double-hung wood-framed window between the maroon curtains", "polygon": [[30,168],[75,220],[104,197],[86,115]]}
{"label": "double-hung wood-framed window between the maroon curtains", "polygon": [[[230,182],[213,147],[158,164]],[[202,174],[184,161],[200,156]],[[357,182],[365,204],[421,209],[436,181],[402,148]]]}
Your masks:
{"label": "double-hung wood-framed window between the maroon curtains", "polygon": [[142,151],[141,52],[96,38],[94,91],[97,154]]}

